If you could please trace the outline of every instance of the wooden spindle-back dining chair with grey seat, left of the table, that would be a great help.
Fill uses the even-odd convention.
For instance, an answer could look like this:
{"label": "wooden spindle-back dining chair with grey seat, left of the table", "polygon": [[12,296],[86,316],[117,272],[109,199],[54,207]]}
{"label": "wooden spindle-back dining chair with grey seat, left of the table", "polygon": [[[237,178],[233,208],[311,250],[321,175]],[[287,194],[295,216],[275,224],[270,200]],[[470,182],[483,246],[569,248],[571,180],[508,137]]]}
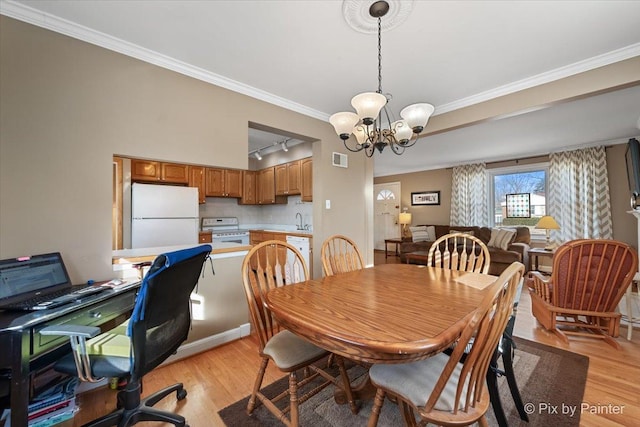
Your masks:
{"label": "wooden spindle-back dining chair with grey seat, left of the table", "polygon": [[[294,427],[299,423],[298,405],[330,384],[343,390],[351,410],[357,412],[343,359],[337,356],[333,358],[340,371],[340,382],[324,369],[314,365],[315,362],[329,356],[329,352],[279,326],[264,304],[269,290],[303,282],[308,278],[309,269],[302,254],[293,245],[280,240],[267,240],[255,245],[242,262],[242,283],[249,304],[251,322],[258,337],[258,350],[262,357],[247,404],[247,413],[250,415],[257,401],[260,401],[285,425]],[[278,369],[289,374],[288,390],[273,399],[269,399],[260,391],[270,361],[273,361]],[[303,371],[303,377],[298,379],[300,370]],[[318,376],[321,376],[324,382],[299,396],[298,389],[302,389]],[[285,397],[289,397],[289,405],[281,410],[276,406],[276,402]]]}

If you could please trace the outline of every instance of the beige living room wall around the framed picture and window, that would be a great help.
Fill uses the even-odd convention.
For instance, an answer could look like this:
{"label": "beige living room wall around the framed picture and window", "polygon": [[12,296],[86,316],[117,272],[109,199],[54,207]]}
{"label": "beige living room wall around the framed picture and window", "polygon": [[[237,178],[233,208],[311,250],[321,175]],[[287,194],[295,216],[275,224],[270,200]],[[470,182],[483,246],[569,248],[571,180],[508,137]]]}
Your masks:
{"label": "beige living room wall around the framed picture and window", "polygon": [[[616,144],[607,148],[607,169],[609,171],[609,191],[611,195],[611,215],[613,221],[613,238],[638,246],[637,220],[629,211],[629,186],[624,154],[628,140],[614,141]],[[518,164],[537,163],[547,160],[538,157],[519,161]],[[514,166],[515,162],[500,162],[488,167]],[[407,173],[377,177],[375,184],[400,182],[402,206],[408,207],[413,214],[412,224],[449,224],[451,209],[451,169],[438,169],[424,172]],[[411,206],[411,192],[440,190],[440,206]]]}

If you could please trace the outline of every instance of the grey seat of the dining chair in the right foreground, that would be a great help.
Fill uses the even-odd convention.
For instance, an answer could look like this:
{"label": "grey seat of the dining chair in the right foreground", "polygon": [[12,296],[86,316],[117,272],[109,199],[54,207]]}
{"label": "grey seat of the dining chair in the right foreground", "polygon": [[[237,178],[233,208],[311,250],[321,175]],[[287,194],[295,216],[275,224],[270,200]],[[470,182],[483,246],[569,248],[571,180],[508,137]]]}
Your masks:
{"label": "grey seat of the dining chair in the right foreground", "polygon": [[[414,406],[424,406],[431,395],[442,370],[449,361],[449,356],[438,353],[425,360],[397,365],[373,365],[369,370],[371,381],[393,394],[403,396]],[[456,387],[460,378],[462,364],[457,364],[444,388],[434,409],[439,411],[453,411]],[[463,395],[466,394],[466,386]],[[464,399],[460,400],[464,405]],[[461,408],[462,409],[462,406]]]}

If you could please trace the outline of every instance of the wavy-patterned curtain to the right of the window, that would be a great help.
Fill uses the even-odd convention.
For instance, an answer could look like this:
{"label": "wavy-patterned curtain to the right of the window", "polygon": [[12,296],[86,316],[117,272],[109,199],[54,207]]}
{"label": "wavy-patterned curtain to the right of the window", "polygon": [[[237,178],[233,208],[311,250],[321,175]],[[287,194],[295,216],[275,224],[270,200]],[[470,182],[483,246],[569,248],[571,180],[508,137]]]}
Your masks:
{"label": "wavy-patterned curtain to the right of the window", "polygon": [[549,215],[560,225],[552,240],[611,239],[611,200],[604,147],[549,156]]}

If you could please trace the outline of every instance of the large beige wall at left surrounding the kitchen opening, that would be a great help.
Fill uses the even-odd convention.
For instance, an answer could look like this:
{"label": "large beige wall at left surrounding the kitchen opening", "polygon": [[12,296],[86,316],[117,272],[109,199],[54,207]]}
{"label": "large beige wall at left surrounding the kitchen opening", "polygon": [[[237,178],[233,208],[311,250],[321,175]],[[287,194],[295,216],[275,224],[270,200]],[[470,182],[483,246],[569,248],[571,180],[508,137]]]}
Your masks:
{"label": "large beige wall at left surrounding the kitchen opening", "polygon": [[61,251],[74,281],[112,277],[112,156],[244,169],[253,122],[316,141],[316,267],[347,231],[372,259],[371,163],[332,167],[327,122],[5,16],[0,93],[1,258]]}

